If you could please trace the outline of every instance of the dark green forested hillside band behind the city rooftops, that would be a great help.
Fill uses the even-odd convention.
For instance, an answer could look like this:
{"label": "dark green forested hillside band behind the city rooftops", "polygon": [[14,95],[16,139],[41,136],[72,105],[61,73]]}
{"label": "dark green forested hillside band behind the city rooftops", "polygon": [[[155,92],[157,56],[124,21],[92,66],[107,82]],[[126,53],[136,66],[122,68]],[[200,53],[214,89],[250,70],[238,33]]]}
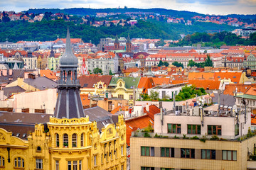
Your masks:
{"label": "dark green forested hillside band behind the city rooftops", "polygon": [[0,42],[8,38],[10,42],[19,40],[26,41],[48,41],[59,38],[65,38],[67,26],[70,27],[72,38],[82,38],[84,42],[98,44],[100,38],[119,37],[130,38],[151,38],[162,40],[178,40],[181,34],[213,33],[214,30],[230,31],[235,28],[225,24],[201,23],[196,22],[192,26],[185,26],[181,23],[163,23],[149,22],[139,20],[135,26],[90,26],[87,24],[77,24],[74,22],[65,22],[64,20],[46,21],[28,23],[27,21],[11,21],[8,23],[0,23]]}

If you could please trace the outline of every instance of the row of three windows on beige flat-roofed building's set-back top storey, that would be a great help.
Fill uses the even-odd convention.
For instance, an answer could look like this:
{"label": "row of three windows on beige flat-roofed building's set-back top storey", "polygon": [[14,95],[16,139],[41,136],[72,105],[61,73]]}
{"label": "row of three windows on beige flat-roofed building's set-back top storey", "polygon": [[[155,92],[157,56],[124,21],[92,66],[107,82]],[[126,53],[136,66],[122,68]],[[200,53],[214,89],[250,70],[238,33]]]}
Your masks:
{"label": "row of three windows on beige flat-roofed building's set-back top storey", "polygon": [[[169,133],[181,134],[181,124],[167,124]],[[221,135],[221,125],[207,125],[208,135]],[[201,125],[187,125],[188,134],[201,135]]]}

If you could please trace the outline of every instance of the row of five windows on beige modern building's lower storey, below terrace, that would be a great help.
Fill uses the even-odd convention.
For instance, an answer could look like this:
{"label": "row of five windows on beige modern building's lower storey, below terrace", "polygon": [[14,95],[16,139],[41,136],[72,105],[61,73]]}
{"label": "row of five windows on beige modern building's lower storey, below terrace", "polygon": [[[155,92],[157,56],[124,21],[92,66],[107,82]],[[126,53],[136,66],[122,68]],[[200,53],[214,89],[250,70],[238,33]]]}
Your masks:
{"label": "row of five windows on beige modern building's lower storey, below terrace", "polygon": [[[141,147],[141,156],[154,157],[154,147]],[[174,147],[161,147],[161,157],[175,157]],[[195,159],[195,149],[181,148],[181,158]],[[201,159],[216,159],[215,149],[201,149]],[[237,160],[237,152],[232,150],[223,150],[222,159],[228,161]]]}

